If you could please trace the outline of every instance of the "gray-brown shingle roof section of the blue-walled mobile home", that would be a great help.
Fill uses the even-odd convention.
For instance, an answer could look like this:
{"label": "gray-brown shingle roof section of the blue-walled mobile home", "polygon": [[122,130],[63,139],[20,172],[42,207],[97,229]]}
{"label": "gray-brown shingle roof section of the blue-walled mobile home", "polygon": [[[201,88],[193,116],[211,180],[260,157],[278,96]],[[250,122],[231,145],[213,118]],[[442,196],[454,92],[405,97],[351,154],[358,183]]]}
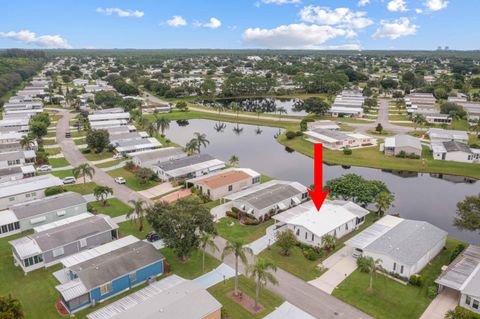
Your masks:
{"label": "gray-brown shingle roof section of the blue-walled mobile home", "polygon": [[138,241],[71,267],[87,289],[164,259],[151,244]]}

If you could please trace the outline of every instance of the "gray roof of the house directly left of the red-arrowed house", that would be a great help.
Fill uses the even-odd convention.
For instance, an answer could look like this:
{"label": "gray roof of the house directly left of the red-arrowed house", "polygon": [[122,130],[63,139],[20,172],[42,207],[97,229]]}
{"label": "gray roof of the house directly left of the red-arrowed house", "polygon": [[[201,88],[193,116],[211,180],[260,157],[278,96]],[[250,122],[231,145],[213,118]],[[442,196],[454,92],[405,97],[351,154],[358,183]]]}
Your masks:
{"label": "gray roof of the house directly left of the red-arrowed house", "polygon": [[252,194],[240,197],[237,201],[246,202],[256,209],[262,210],[301,193],[301,191],[290,185],[275,184]]}

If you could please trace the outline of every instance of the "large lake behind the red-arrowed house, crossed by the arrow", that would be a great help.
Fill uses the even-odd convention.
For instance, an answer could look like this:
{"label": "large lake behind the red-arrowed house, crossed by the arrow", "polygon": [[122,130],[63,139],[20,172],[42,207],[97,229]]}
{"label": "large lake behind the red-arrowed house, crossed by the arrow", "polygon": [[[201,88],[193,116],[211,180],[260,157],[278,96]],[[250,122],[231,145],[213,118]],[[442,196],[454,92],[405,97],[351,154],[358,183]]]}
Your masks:
{"label": "large lake behind the red-arrowed house, crossed by the arrow", "polygon": [[[221,128],[223,130],[217,132]],[[166,135],[172,141],[185,145],[192,139],[194,132],[205,133],[210,141],[202,153],[209,153],[225,162],[235,154],[240,160],[239,167],[249,167],[277,179],[298,181],[304,185],[313,182],[313,160],[285,150],[275,140],[275,135],[281,132],[278,128],[243,124],[237,126],[234,123],[209,120],[190,120],[188,125],[179,126],[172,121]],[[347,173],[385,182],[395,194],[395,206],[390,210],[391,213],[425,220],[448,231],[453,237],[470,243],[479,242],[478,234],[462,232],[453,227],[452,223],[457,202],[467,195],[480,193],[480,182],[456,176],[440,178],[431,174],[391,173],[363,167],[324,165],[324,181]]]}

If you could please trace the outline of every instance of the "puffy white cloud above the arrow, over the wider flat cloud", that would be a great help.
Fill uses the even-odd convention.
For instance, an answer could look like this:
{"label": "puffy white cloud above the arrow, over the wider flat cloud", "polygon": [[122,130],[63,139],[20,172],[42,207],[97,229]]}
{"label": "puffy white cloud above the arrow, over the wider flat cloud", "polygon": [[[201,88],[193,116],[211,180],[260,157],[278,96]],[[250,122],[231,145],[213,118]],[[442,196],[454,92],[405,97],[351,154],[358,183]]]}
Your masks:
{"label": "puffy white cloud above the arrow, over the wider flat cloud", "polygon": [[331,10],[325,7],[307,6],[299,14],[300,19],[304,22],[337,25],[338,27],[363,29],[373,24],[373,21],[366,17],[366,12],[353,12],[349,8]]}

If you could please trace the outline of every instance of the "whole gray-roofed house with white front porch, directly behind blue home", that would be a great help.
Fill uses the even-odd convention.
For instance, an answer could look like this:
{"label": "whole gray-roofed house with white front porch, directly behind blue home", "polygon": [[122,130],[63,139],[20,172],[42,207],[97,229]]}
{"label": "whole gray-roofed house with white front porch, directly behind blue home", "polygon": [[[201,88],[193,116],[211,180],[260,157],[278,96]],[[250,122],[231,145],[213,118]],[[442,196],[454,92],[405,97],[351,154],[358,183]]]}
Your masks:
{"label": "whole gray-roofed house with white front porch, directly behind blue home", "polygon": [[118,237],[117,229],[118,225],[109,216],[83,213],[38,226],[34,234],[9,243],[15,265],[28,273],[105,244]]}

